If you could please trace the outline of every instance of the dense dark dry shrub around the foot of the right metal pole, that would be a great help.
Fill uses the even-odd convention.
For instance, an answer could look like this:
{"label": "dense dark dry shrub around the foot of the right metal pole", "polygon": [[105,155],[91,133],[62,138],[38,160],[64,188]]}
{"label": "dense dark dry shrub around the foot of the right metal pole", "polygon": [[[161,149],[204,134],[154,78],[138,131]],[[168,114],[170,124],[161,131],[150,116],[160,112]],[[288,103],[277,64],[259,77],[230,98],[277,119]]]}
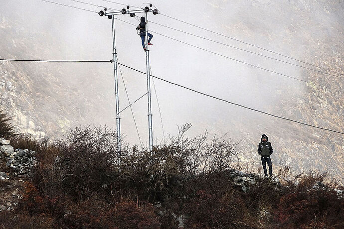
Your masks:
{"label": "dense dark dry shrub around the foot of the right metal pole", "polygon": [[183,191],[185,165],[178,148],[155,148],[124,157],[121,176],[113,183],[117,192],[149,202],[167,201]]}

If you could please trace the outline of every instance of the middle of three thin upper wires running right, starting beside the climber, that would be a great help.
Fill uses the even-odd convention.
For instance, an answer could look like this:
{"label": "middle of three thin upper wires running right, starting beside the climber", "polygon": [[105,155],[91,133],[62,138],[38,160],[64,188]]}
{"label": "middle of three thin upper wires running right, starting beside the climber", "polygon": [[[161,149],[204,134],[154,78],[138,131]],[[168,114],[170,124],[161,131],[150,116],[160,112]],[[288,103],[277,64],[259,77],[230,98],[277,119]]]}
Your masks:
{"label": "middle of three thin upper wires running right, starting beside the climber", "polygon": [[317,69],[308,68],[306,66],[294,64],[294,63],[291,63],[291,62],[288,62],[288,61],[284,61],[284,60],[280,60],[280,59],[277,59],[277,58],[266,56],[266,55],[263,55],[263,54],[260,54],[260,53],[252,52],[252,51],[249,51],[249,50],[246,50],[246,49],[242,49],[242,48],[239,48],[239,47],[235,47],[235,46],[232,46],[232,45],[229,45],[229,44],[221,43],[221,42],[209,39],[209,38],[198,36],[198,35],[193,34],[193,33],[188,33],[188,32],[185,32],[185,31],[182,31],[182,30],[179,30],[179,29],[172,28],[170,26],[159,24],[159,23],[154,22],[154,21],[150,21],[150,22],[153,23],[153,24],[157,24],[157,25],[160,25],[160,26],[163,26],[163,27],[166,27],[166,28],[178,31],[178,32],[182,32],[182,33],[185,33],[185,34],[188,34],[188,35],[191,35],[191,36],[195,36],[195,37],[198,37],[198,38],[201,38],[201,39],[204,39],[204,40],[208,40],[208,41],[211,41],[211,42],[214,42],[214,43],[217,43],[217,44],[221,44],[221,45],[225,45],[225,46],[228,46],[228,47],[231,47],[231,48],[235,48],[235,49],[238,49],[238,50],[241,50],[241,51],[244,51],[244,52],[252,53],[252,54],[255,54],[255,55],[258,55],[258,56],[266,57],[266,58],[269,58],[269,59],[272,59],[272,60],[277,60],[277,61],[280,61],[280,62],[283,62],[283,63],[291,64],[291,65],[298,66],[298,67],[301,67],[301,68],[305,68],[305,69],[308,69],[308,70],[312,70],[312,71],[316,71],[316,72],[319,72],[319,73],[327,74],[327,75],[330,75],[330,76],[336,76],[336,77],[339,77],[339,78],[344,78],[344,77],[340,77],[340,76],[337,76],[337,75],[334,75],[334,74],[331,74],[331,73],[322,72],[322,71],[319,71]]}

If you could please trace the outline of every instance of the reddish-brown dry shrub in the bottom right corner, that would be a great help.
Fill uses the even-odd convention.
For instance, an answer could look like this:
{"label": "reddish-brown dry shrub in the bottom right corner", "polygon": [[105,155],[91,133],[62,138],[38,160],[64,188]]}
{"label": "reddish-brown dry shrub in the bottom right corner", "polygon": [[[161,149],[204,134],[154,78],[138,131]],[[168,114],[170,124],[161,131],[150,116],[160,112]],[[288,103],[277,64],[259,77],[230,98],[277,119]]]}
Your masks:
{"label": "reddish-brown dry shrub in the bottom right corner", "polygon": [[326,181],[326,174],[309,172],[301,177],[298,185],[290,184],[276,211],[282,226],[288,228],[342,228],[344,200],[334,188],[338,184]]}

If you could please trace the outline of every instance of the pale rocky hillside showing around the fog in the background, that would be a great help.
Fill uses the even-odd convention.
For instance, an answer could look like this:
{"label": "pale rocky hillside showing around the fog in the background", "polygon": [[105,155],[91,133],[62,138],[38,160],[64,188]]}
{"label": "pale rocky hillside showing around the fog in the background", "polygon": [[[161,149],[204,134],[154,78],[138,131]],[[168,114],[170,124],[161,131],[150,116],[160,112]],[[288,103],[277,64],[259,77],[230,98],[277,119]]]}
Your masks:
{"label": "pale rocky hillside showing around the fog in the background", "polygon": [[[226,35],[242,37],[243,40],[251,43],[262,42],[262,45],[271,47],[272,50],[281,51],[288,56],[298,57],[340,74],[344,73],[343,1],[249,0],[230,5],[228,1],[213,0],[211,7],[215,11],[225,11],[229,8],[232,10],[231,14],[223,14],[225,18],[221,23],[214,25],[215,29]],[[247,12],[251,12],[251,17],[245,19],[239,17]],[[34,16],[28,17],[30,20],[27,20],[26,25],[20,18],[19,14],[14,16],[5,12],[0,14],[0,36],[3,38],[0,43],[1,58],[62,59],[66,56],[76,56],[79,59],[93,58],[90,58],[87,48],[82,44],[70,46],[66,44],[62,35],[56,35],[56,31],[52,29],[30,29],[30,25],[34,24],[30,20],[34,20]],[[230,23],[223,22],[227,19]],[[208,23],[205,21],[204,19],[204,23]],[[58,29],[63,28],[63,25],[58,24],[59,22],[51,23]],[[259,26],[254,26],[255,24]],[[247,58],[255,60],[253,57]],[[236,71],[242,71],[241,67],[237,67]],[[109,70],[107,75],[102,72],[102,68]],[[161,68],[164,68],[163,64]],[[344,86],[343,78],[303,69],[295,70],[284,65],[276,65],[276,68],[333,89],[341,90]],[[195,69],[189,71],[198,74]],[[287,83],[281,78],[273,78],[277,76],[265,76],[264,72],[256,70],[250,70],[251,72],[262,80],[261,84],[248,83],[250,87],[240,89],[252,91],[252,95],[258,98],[257,101],[247,103],[252,103],[255,108],[262,108],[272,114],[343,131],[343,93],[315,87],[312,84],[297,84],[289,81]],[[0,110],[14,116],[15,125],[20,131],[35,137],[47,136],[51,139],[63,137],[69,128],[79,125],[107,124],[112,127],[114,96],[113,78],[108,77],[110,73],[111,66],[103,67],[96,64],[1,61]],[[131,79],[128,78],[129,83],[135,85],[136,82]],[[271,84],[274,87],[266,90],[266,95],[262,96],[255,90],[264,84]],[[120,93],[124,97],[123,88]],[[221,96],[225,97],[227,94]],[[267,102],[262,102],[259,96],[267,97]],[[233,98],[236,96],[233,95]],[[194,103],[199,104],[198,107],[203,106],[203,101]],[[248,171],[260,166],[256,146],[261,134],[265,133],[275,148],[272,160],[276,169],[284,166],[289,166],[297,172],[317,169],[321,172],[329,172],[333,177],[344,179],[344,141],[340,134],[246,113],[236,108],[229,110],[232,108],[227,108],[225,107],[227,105],[223,104],[209,105],[212,106],[209,114],[201,109],[194,111],[186,108],[184,112],[176,112],[179,110],[178,107],[170,105],[170,103],[161,105],[163,114],[164,111],[166,114],[164,117],[166,129],[175,131],[176,124],[189,121],[190,118],[186,114],[190,113],[194,117],[191,119],[194,125],[193,131],[197,134],[204,129],[218,135],[228,132],[227,136],[239,142],[237,146],[240,151],[239,165],[247,168]],[[179,118],[176,119],[176,116]],[[142,115],[142,117],[145,119],[140,119],[138,125],[139,129],[142,127],[144,131],[147,120],[146,116]],[[158,117],[158,113],[155,113],[155,117]],[[157,133],[159,121],[155,120],[155,133]],[[139,144],[135,141],[135,132],[133,125],[125,131],[126,139],[130,144]],[[161,135],[157,134],[158,142],[162,139]]]}

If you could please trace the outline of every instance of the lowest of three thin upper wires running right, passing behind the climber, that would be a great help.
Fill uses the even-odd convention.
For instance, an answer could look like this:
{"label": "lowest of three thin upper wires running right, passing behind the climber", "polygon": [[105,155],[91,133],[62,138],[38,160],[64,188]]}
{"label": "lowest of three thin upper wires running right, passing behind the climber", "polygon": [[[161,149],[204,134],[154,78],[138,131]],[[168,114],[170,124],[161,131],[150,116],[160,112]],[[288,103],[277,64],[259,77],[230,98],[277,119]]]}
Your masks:
{"label": "lowest of three thin upper wires running right, passing behind the climber", "polygon": [[[122,22],[125,22],[125,23],[127,23],[127,24],[131,24],[131,25],[136,26],[135,24],[132,24],[132,23],[130,23],[130,22],[127,22],[127,21],[124,21],[124,20],[121,20],[121,19],[118,19],[118,18],[115,18],[115,19],[117,19],[117,20],[119,20],[119,21],[122,21]],[[281,75],[281,76],[285,76],[285,77],[288,77],[288,78],[291,78],[291,79],[294,79],[294,80],[298,80],[298,81],[302,81],[302,82],[305,82],[305,83],[313,84],[313,85],[316,85],[316,86],[319,86],[319,87],[324,87],[324,88],[327,88],[327,89],[329,89],[329,90],[331,90],[331,91],[337,91],[337,92],[342,92],[342,93],[344,92],[344,91],[337,90],[337,89],[333,89],[333,88],[331,88],[331,87],[327,87],[327,86],[324,86],[324,85],[316,84],[316,83],[313,83],[313,82],[310,82],[310,81],[307,81],[307,80],[302,80],[302,79],[299,79],[299,78],[296,78],[296,77],[292,77],[292,76],[289,76],[289,75],[286,75],[286,74],[283,74],[283,73],[280,73],[280,72],[276,72],[276,71],[273,71],[273,70],[269,70],[269,69],[267,69],[267,68],[259,67],[259,66],[254,65],[254,64],[250,64],[250,63],[247,63],[247,62],[244,62],[244,61],[241,61],[241,60],[237,60],[237,59],[231,58],[231,57],[229,57],[229,56],[225,56],[225,55],[222,55],[222,54],[213,52],[213,51],[208,50],[208,49],[205,49],[205,48],[201,48],[201,47],[196,46],[196,45],[193,45],[193,44],[189,44],[189,43],[187,43],[187,42],[184,42],[184,41],[181,41],[181,40],[178,40],[178,39],[169,37],[169,36],[167,36],[167,35],[164,35],[164,34],[155,32],[155,31],[153,31],[153,30],[151,30],[151,31],[154,32],[154,33],[156,33],[156,34],[159,34],[159,35],[161,35],[161,36],[164,36],[164,37],[170,38],[170,39],[172,39],[172,40],[178,41],[178,42],[180,42],[180,43],[183,43],[183,44],[192,46],[192,47],[194,47],[194,48],[198,48],[198,49],[203,50],[203,51],[206,51],[206,52],[210,52],[210,53],[215,54],[215,55],[218,55],[218,56],[222,56],[222,57],[227,58],[227,59],[230,59],[230,60],[237,61],[237,62],[242,63],[242,64],[249,65],[249,66],[251,66],[251,67],[259,68],[259,69],[264,70],[264,71],[267,71],[267,72],[272,72],[272,73],[275,73],[275,74],[278,74],[278,75]]]}

